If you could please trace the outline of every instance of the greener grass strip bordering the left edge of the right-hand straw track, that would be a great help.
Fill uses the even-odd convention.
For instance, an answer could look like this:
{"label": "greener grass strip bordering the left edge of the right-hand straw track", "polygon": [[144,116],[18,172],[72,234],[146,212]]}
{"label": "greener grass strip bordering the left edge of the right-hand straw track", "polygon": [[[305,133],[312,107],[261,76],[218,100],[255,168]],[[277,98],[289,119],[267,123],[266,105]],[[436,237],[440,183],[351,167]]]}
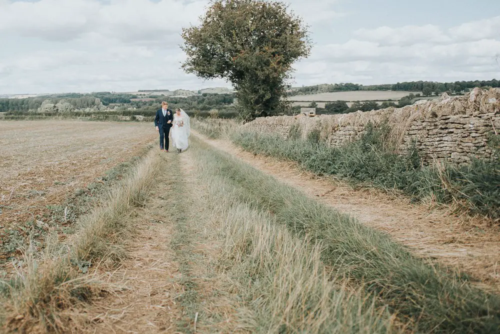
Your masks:
{"label": "greener grass strip bordering the left edge of the right-hand straw track", "polygon": [[[500,298],[472,287],[465,276],[448,275],[426,264],[388,235],[235,158],[209,147],[198,154],[203,177],[212,174],[223,178],[222,191],[232,189],[233,200],[267,211],[274,221],[309,244],[322,244],[321,260],[337,277],[349,277],[365,293],[376,295],[376,305],[387,305],[403,323],[411,321],[412,330],[490,333],[500,329]],[[251,250],[254,243],[249,240],[239,242],[238,247]],[[252,278],[259,279],[258,275]]]}

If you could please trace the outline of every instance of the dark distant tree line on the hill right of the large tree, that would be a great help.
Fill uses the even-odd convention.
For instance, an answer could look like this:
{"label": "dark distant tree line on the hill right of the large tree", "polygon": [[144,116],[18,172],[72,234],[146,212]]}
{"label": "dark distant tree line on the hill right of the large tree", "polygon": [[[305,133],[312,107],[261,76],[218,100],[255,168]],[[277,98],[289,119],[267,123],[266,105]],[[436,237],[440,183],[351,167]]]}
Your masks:
{"label": "dark distant tree line on the hill right of the large tree", "polygon": [[313,86],[303,86],[294,88],[287,94],[316,94],[322,92],[352,91],[352,90],[399,90],[399,91],[421,91],[423,95],[429,96],[432,93],[438,95],[442,92],[460,93],[474,87],[500,87],[500,81],[492,80],[474,80],[474,81],[455,81],[455,82],[434,82],[434,81],[409,81],[397,82],[392,84],[374,84],[362,85],[357,83],[333,83],[317,84]]}

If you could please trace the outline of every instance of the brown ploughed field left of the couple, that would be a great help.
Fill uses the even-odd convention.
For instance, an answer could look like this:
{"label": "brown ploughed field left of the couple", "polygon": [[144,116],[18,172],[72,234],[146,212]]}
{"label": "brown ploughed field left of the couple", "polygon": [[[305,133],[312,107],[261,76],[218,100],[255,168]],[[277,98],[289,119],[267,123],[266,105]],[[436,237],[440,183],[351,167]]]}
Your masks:
{"label": "brown ploughed field left of the couple", "polygon": [[[77,189],[103,183],[96,177],[141,155],[155,137],[151,123],[1,121],[0,262],[38,234],[33,228],[53,227],[49,215]],[[61,209],[70,220],[70,207]]]}

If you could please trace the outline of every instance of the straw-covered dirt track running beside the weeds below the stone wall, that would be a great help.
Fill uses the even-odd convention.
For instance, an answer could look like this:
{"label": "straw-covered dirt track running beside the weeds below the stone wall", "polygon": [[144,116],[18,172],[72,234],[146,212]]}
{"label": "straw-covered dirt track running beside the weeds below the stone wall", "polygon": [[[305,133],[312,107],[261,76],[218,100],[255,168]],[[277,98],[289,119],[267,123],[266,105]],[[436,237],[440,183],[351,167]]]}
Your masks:
{"label": "straw-covered dirt track running beside the weeds below the stone wall", "polygon": [[315,177],[292,162],[257,156],[229,141],[194,133],[310,197],[389,233],[419,256],[460,268],[477,279],[477,285],[500,291],[500,228],[488,226],[481,219],[463,221],[466,218],[457,218],[443,210],[412,205],[404,197],[373,189],[353,189],[338,181]]}

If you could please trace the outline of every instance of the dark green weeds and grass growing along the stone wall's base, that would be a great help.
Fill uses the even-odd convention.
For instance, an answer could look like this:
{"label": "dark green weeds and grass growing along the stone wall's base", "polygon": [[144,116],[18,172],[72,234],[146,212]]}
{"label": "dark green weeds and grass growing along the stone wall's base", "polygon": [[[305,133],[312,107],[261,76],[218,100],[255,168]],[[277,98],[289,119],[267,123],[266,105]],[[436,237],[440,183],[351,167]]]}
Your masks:
{"label": "dark green weeds and grass growing along the stone wall's base", "polygon": [[355,183],[383,189],[398,189],[415,200],[439,204],[453,203],[500,221],[500,146],[492,137],[490,159],[472,159],[464,166],[433,164],[423,166],[415,148],[393,153],[388,145],[389,129],[368,124],[357,141],[341,147],[320,142],[312,131],[306,140],[293,132],[288,139],[252,131],[234,131],[232,140],[253,153],[296,162],[319,175],[336,175]]}

